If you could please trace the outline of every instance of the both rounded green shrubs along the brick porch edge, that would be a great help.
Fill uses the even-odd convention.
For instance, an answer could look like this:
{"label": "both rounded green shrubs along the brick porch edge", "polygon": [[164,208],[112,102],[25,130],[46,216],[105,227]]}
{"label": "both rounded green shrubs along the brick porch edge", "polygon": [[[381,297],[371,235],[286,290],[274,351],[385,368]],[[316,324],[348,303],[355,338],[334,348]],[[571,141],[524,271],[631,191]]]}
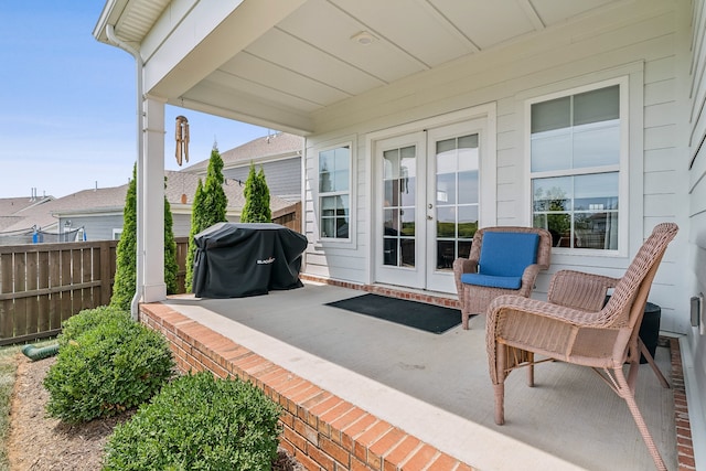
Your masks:
{"label": "both rounded green shrubs along the brick porch edge", "polygon": [[168,382],[164,338],[115,307],[72,317],[58,343],[44,378],[50,416],[81,422],[139,407],[108,438],[104,470],[271,469],[281,409],[252,384],[207,372]]}

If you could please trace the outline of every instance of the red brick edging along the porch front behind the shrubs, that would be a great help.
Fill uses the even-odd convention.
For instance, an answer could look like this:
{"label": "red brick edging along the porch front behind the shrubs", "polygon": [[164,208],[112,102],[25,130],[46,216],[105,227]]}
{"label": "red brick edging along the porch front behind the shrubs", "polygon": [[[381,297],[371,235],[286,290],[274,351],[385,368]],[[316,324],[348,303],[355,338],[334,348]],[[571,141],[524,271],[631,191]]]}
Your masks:
{"label": "red brick edging along the porch front behind the shrubs", "polygon": [[237,376],[280,404],[280,446],[309,471],[473,470],[169,306],[141,304],[140,320],[167,338],[181,372]]}

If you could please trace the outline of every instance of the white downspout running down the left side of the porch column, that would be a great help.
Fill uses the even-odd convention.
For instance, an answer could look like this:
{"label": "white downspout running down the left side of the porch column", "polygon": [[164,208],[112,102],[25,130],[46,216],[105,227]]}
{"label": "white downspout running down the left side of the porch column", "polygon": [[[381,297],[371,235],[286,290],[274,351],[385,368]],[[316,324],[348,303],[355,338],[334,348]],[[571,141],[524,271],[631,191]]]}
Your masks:
{"label": "white downspout running down the left side of the porch column", "polygon": [[135,321],[139,320],[140,311],[139,311],[139,302],[142,298],[142,287],[145,285],[145,237],[142,234],[142,201],[143,201],[143,190],[142,190],[142,165],[145,161],[145,150],[143,150],[143,136],[142,129],[145,128],[145,114],[142,113],[142,56],[140,52],[126,43],[125,41],[119,40],[115,35],[115,29],[113,24],[106,25],[106,34],[108,36],[108,41],[110,41],[116,46],[120,47],[124,51],[127,51],[135,57],[136,62],[136,71],[137,71],[137,172],[136,172],[136,190],[137,190],[137,272],[136,272],[136,283],[135,283],[135,296],[132,297],[132,302],[130,303],[130,314]]}

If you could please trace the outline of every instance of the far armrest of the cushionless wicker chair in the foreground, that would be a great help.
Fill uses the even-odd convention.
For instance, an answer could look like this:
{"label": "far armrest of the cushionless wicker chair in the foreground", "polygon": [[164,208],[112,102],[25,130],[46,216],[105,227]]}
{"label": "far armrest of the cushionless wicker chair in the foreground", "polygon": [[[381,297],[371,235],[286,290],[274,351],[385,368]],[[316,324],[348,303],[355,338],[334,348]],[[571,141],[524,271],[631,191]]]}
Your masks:
{"label": "far armrest of the cushionless wicker chair in the foreground", "polygon": [[620,279],[574,270],[557,271],[549,282],[547,300],[553,304],[584,311],[600,311],[606,293]]}

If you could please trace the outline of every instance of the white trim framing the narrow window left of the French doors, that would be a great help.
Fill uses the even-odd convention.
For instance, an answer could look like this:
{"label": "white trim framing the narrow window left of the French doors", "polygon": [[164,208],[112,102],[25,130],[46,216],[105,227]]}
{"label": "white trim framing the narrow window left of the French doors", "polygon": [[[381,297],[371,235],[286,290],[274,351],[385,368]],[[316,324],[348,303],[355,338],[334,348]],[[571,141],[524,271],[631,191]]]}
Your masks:
{"label": "white trim framing the narrow window left of the French doors", "polygon": [[[319,191],[319,158],[321,152],[325,152],[328,150],[332,150],[332,149],[339,149],[342,147],[347,147],[351,150],[351,162],[350,162],[350,172],[349,172],[349,191],[347,191],[347,195],[349,195],[349,236],[347,238],[336,238],[336,237],[322,237],[321,236],[321,193]],[[329,143],[319,146],[319,147],[314,147],[312,149],[313,151],[313,156],[314,156],[314,163],[315,163],[315,174],[317,174],[317,180],[315,180],[315,186],[313,189],[313,205],[314,205],[314,220],[315,220],[315,236],[317,236],[317,244],[321,245],[321,246],[325,246],[325,247],[341,247],[341,248],[351,248],[352,246],[355,246],[355,228],[356,228],[356,211],[355,211],[355,188],[354,188],[354,182],[355,179],[353,178],[355,175],[356,172],[356,151],[355,151],[355,139],[353,139],[352,137],[345,138],[345,139],[341,139],[341,140],[336,140],[335,143],[331,143],[331,141],[329,141]],[[330,192],[327,194],[331,194],[333,195],[334,193],[341,193],[341,194],[345,194],[343,192]]]}

